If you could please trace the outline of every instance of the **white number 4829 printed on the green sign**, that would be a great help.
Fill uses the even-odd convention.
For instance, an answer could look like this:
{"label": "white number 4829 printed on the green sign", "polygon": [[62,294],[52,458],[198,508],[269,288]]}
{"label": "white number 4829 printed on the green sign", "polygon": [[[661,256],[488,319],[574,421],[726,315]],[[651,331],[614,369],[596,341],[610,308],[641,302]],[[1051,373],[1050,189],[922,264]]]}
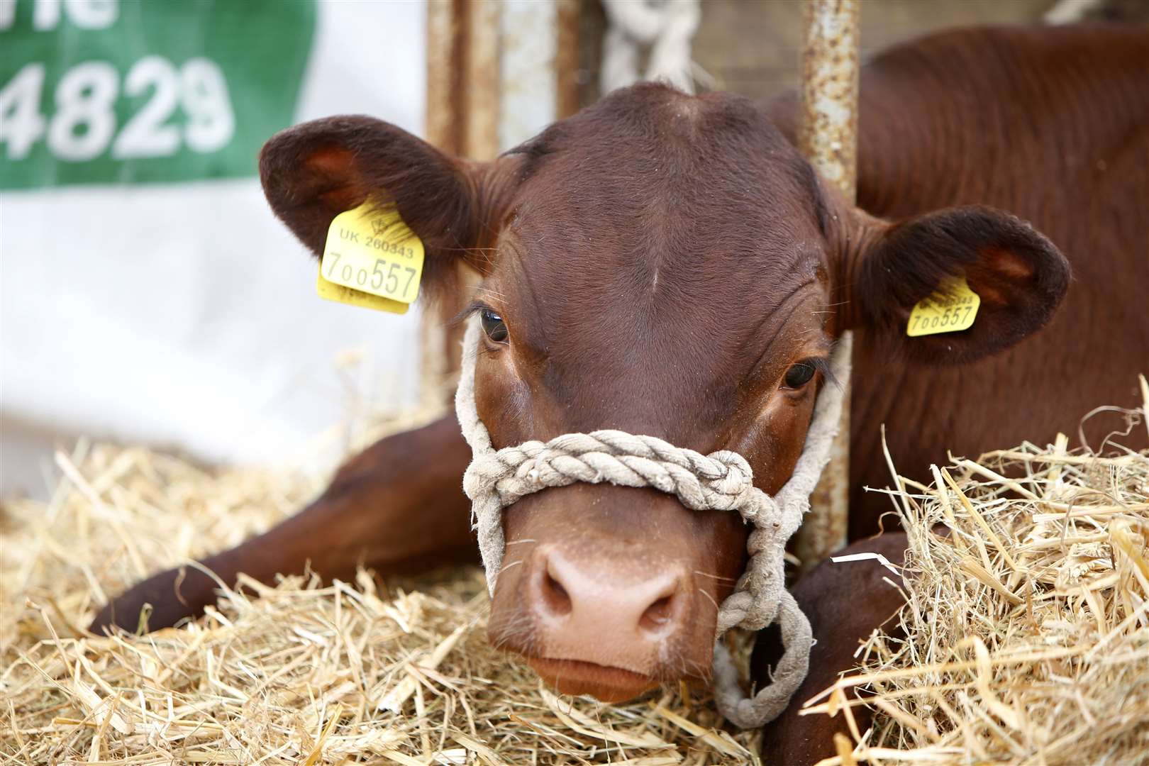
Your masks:
{"label": "white number 4829 printed on the green sign", "polygon": [[[103,154],[116,132],[115,103],[119,87],[116,68],[105,61],[87,61],[64,72],[56,85],[55,111],[49,121],[40,114],[44,64],[30,63],[0,91],[0,145],[8,160],[23,160],[47,130],[48,150],[60,160],[84,162]],[[216,152],[231,141],[236,115],[228,98],[228,83],[219,67],[208,59],[190,59],[176,69],[163,56],[145,56],[124,78],[124,94],[152,98],[124,124],[111,144],[116,160],[165,157],[180,142],[193,152]],[[183,107],[187,123],[183,136],[165,124]]]}

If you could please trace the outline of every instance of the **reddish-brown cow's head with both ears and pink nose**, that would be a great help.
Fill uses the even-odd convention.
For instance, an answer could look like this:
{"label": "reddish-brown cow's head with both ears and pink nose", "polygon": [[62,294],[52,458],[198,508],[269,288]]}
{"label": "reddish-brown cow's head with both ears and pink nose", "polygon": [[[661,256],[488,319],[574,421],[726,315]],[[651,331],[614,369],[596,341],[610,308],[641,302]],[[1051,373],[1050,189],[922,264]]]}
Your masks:
{"label": "reddish-brown cow's head with both ears and pink nose", "polygon": [[[988,208],[895,224],[843,203],[755,106],[660,85],[617,91],[489,163],[368,117],[287,130],[261,157],[269,201],[321,253],[368,196],[426,248],[424,289],[481,274],[476,393],[495,448],[619,428],[731,449],[777,492],[834,339],[881,333],[916,362],[962,363],[1051,315],[1062,255]],[[905,338],[910,309],[964,274],[974,325]],[[704,676],[717,605],[743,570],[735,513],[653,489],[581,485],[504,512],[491,640],[568,693],[603,699]]]}

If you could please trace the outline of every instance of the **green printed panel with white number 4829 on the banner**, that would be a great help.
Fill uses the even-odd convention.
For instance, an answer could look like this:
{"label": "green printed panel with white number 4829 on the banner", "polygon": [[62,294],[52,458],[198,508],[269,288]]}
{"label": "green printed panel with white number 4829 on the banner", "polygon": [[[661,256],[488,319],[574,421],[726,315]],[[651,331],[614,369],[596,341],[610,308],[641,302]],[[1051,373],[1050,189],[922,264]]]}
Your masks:
{"label": "green printed panel with white number 4829 on the banner", "polygon": [[0,188],[256,172],[315,0],[0,0]]}

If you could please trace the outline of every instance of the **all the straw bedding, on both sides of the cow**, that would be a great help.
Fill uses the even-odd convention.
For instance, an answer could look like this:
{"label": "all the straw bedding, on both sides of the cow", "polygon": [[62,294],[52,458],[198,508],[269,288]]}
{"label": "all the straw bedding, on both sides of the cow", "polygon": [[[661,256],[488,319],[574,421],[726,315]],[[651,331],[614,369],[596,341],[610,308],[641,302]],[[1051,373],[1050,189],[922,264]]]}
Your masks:
{"label": "all the straw bedding, on both sides of the cow", "polygon": [[[849,717],[858,694],[879,709],[834,761],[1149,763],[1149,454],[1065,447],[890,490],[915,529],[904,635],[872,636],[859,670],[811,701],[811,714]],[[265,529],[324,477],[110,444],[56,463],[48,502],[0,514],[9,763],[756,760],[761,734],[727,730],[705,689],[602,706],[540,688],[487,645],[475,570],[247,583],[259,598],[225,590],[180,628],[86,634],[109,595]]]}

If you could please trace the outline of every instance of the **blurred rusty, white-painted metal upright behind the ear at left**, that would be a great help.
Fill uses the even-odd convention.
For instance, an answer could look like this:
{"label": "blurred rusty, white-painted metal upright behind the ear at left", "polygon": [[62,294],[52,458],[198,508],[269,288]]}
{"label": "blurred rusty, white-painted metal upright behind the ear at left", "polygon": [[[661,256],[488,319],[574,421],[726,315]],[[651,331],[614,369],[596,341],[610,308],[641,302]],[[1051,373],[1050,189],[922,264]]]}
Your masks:
{"label": "blurred rusty, white-painted metal upright behind the ear at left", "polygon": [[[493,160],[577,106],[578,0],[430,0],[426,138],[471,160]],[[464,270],[462,281],[473,281]],[[465,295],[424,311],[421,393],[449,402],[461,331],[446,327]],[[458,336],[456,336],[458,335]]]}

